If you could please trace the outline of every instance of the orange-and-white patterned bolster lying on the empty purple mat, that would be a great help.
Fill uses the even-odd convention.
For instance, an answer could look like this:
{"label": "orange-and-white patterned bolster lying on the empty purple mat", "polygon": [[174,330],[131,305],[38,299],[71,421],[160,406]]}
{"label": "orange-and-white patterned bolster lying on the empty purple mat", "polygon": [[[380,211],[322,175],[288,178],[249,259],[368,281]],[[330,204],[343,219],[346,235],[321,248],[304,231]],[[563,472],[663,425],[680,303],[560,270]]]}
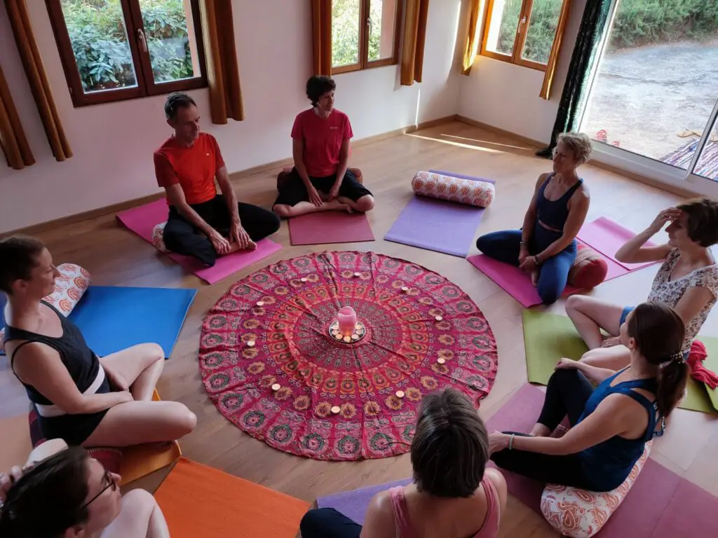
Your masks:
{"label": "orange-and-white patterned bolster lying on the empty purple mat", "polygon": [[474,179],[442,176],[431,172],[416,174],[411,180],[411,189],[421,196],[476,207],[489,207],[496,196],[496,187],[493,184]]}

